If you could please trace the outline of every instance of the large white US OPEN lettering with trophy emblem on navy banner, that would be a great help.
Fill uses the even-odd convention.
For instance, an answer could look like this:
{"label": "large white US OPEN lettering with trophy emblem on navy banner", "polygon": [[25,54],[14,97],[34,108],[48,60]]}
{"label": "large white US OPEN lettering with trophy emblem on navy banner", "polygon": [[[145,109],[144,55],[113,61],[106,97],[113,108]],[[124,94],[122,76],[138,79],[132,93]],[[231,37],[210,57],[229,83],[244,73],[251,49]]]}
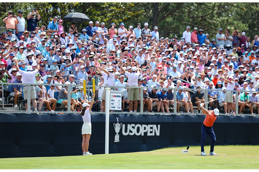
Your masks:
{"label": "large white US OPEN lettering with trophy emblem on navy banner", "polygon": [[119,132],[122,127],[123,135],[159,135],[160,134],[160,125],[140,125],[140,124],[128,124],[127,127],[125,124],[119,123],[119,118],[117,123],[113,124],[116,132],[114,142],[119,142]]}

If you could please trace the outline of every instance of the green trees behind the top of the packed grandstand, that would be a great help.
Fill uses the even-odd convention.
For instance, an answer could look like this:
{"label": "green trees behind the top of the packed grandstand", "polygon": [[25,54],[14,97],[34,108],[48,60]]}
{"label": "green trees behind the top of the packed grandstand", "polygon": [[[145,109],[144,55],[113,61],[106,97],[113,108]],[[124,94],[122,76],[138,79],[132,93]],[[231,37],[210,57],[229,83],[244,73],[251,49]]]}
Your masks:
{"label": "green trees behind the top of the packed grandstand", "polygon": [[[152,31],[154,26],[158,27],[160,37],[182,36],[186,26],[198,27],[210,34],[210,39],[215,38],[218,28],[228,28],[232,33],[234,28],[239,32],[244,30],[246,36],[254,37],[259,32],[259,4],[253,3],[85,3],[85,2],[51,2],[51,3],[0,3],[0,26],[5,26],[3,19],[7,11],[12,10],[17,14],[19,9],[24,11],[23,17],[36,8],[41,15],[39,25],[48,26],[53,16],[63,19],[70,12],[86,14],[91,21],[100,21],[109,29],[111,23],[118,25],[124,22],[126,28],[137,23],[142,25],[148,22]],[[70,27],[70,22],[63,20],[65,30]],[[78,31],[88,26],[88,22],[77,22]]]}

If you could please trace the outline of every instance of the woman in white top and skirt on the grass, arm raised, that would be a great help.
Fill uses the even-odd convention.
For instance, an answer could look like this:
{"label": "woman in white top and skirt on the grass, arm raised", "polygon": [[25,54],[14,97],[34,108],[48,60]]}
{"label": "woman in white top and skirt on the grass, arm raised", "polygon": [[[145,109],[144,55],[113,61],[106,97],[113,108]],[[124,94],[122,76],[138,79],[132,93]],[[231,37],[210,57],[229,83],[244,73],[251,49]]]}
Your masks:
{"label": "woman in white top and skirt on the grass, arm raised", "polygon": [[84,124],[82,126],[82,137],[83,137],[83,141],[82,141],[82,150],[83,150],[83,155],[93,155],[92,153],[90,153],[88,151],[88,147],[89,147],[89,140],[92,134],[92,125],[91,125],[91,116],[90,116],[90,110],[93,107],[93,102],[94,102],[94,97],[95,94],[93,94],[92,96],[92,101],[90,103],[90,105],[88,103],[83,103],[82,104],[82,111],[81,111],[81,115],[84,121]]}

